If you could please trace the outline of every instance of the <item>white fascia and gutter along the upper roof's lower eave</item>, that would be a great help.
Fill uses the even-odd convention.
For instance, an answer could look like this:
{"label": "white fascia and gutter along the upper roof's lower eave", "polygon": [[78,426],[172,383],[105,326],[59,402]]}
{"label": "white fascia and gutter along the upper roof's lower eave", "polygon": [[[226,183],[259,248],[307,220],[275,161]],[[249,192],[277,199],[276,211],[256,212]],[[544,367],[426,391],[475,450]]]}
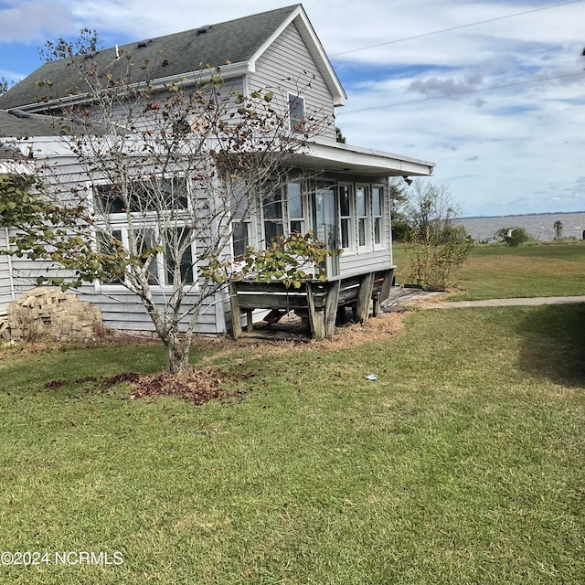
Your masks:
{"label": "white fascia and gutter along the upper roof's lower eave", "polygon": [[[179,73],[177,75],[169,75],[168,77],[162,77],[152,81],[141,81],[139,83],[133,83],[130,87],[133,89],[140,89],[150,85],[155,90],[162,90],[165,87],[173,85],[174,83],[178,83],[184,87],[189,87],[191,85],[195,85],[197,82],[205,83],[208,80],[214,78],[216,75],[219,75],[219,77],[221,77],[223,80],[229,80],[241,75],[253,73],[256,70],[255,64],[251,64],[246,61],[242,61],[240,63],[229,63],[229,65],[222,65],[218,69],[219,73],[215,68],[200,69],[197,71]],[[28,103],[27,105],[19,106],[18,110],[31,113],[44,112],[45,110],[53,107],[60,108],[63,106],[71,106],[78,103],[83,103],[88,100],[90,100],[90,93],[79,93],[77,95],[72,95],[65,98],[43,101],[41,103]]]}

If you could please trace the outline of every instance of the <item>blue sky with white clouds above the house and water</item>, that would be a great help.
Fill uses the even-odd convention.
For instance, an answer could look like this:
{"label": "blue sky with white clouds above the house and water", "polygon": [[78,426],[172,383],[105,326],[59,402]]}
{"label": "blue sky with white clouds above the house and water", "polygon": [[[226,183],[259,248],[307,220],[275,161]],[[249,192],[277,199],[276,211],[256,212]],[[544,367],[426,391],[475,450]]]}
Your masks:
{"label": "blue sky with white clouds above the house and water", "polygon": [[[48,39],[104,47],[293,0],[0,0],[0,77]],[[306,0],[346,88],[349,144],[436,163],[464,215],[585,209],[585,0]]]}

